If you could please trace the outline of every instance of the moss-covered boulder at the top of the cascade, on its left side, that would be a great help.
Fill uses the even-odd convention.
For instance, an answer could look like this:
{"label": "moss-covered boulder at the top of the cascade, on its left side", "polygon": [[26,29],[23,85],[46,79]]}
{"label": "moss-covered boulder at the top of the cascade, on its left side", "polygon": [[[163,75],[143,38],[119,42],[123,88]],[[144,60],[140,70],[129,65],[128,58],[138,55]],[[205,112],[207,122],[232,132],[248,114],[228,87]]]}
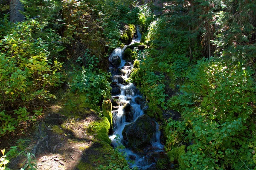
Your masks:
{"label": "moss-covered boulder at the top of the cascade, on its left side", "polygon": [[134,33],[136,32],[135,26],[132,24],[128,24],[123,26],[123,34],[121,36],[122,43],[128,45],[131,43],[132,38],[134,37]]}

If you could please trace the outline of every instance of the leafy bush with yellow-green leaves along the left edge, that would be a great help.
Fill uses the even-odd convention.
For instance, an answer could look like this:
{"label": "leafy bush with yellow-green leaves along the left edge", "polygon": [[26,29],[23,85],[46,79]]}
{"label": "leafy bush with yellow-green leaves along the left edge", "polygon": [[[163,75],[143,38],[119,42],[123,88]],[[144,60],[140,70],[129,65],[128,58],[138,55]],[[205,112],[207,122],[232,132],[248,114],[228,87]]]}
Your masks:
{"label": "leafy bush with yellow-green leaves along the left edge", "polygon": [[49,89],[61,82],[61,63],[52,58],[57,59],[63,48],[52,42],[58,41],[57,34],[43,29],[35,20],[11,24],[6,17],[1,21],[1,135],[29,120],[28,111],[37,109],[43,100],[54,98]]}

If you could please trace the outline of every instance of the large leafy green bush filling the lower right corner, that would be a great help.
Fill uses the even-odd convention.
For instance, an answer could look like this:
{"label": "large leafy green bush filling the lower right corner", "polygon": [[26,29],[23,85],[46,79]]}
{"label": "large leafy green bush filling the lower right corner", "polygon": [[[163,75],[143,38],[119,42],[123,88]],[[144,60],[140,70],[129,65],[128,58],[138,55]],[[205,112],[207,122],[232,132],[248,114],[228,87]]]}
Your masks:
{"label": "large leafy green bush filling the lower right corner", "polygon": [[189,74],[189,83],[181,86],[181,94],[168,101],[182,113],[182,121],[167,125],[166,147],[190,143],[182,156],[188,169],[255,167],[251,158],[256,149],[256,89],[251,74],[240,63],[202,59]]}

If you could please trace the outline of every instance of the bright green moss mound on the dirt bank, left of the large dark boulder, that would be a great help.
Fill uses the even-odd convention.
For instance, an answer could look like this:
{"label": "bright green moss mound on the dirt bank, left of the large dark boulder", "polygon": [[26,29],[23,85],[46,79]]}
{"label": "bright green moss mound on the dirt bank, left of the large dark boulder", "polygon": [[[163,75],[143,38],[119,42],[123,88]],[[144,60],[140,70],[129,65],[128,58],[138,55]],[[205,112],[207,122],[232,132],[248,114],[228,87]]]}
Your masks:
{"label": "bright green moss mound on the dirt bank, left of the large dark boulder", "polygon": [[101,120],[93,122],[92,126],[92,133],[96,134],[96,139],[102,140],[108,144],[111,143],[111,140],[108,138],[110,122],[107,117],[102,117]]}

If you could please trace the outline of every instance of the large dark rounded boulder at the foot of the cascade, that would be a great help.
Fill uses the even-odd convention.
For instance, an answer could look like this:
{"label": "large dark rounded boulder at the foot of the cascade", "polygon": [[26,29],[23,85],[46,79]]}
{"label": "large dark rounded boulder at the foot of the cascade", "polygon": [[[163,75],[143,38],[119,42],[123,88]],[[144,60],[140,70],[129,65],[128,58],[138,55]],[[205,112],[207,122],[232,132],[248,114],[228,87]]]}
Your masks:
{"label": "large dark rounded boulder at the foot of the cascade", "polygon": [[122,131],[126,146],[132,149],[142,149],[150,146],[156,122],[147,115],[140,116],[135,122],[126,125]]}

